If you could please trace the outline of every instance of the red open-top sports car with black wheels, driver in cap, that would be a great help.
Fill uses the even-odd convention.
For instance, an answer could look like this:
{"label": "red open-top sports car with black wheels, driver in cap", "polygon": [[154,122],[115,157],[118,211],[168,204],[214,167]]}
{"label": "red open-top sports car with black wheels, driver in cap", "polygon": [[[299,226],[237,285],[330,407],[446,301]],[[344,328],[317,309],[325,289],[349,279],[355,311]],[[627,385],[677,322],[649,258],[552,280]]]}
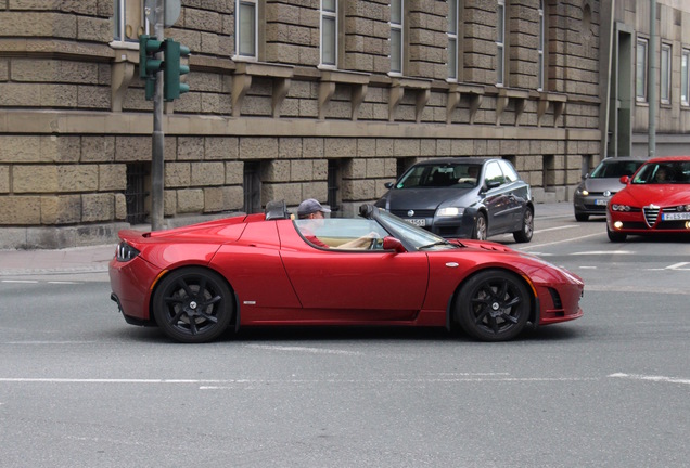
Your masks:
{"label": "red open-top sports car with black wheels, driver in cap", "polygon": [[[128,323],[181,342],[285,325],[459,325],[500,341],[583,315],[584,284],[563,269],[490,242],[444,239],[372,205],[359,214],[294,220],[270,203],[265,213],[122,231],[111,298]],[[361,237],[367,248],[340,247]]]}

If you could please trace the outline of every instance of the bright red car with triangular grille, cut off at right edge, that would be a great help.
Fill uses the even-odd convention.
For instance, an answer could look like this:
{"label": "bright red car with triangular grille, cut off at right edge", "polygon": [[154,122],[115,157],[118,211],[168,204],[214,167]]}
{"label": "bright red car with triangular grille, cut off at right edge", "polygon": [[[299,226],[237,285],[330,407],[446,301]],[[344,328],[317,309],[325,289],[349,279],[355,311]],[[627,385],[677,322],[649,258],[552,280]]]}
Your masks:
{"label": "bright red car with triangular grille, cut off at right edge", "polygon": [[625,188],[606,209],[609,239],[623,242],[628,234],[690,234],[690,156],[649,159],[621,182]]}

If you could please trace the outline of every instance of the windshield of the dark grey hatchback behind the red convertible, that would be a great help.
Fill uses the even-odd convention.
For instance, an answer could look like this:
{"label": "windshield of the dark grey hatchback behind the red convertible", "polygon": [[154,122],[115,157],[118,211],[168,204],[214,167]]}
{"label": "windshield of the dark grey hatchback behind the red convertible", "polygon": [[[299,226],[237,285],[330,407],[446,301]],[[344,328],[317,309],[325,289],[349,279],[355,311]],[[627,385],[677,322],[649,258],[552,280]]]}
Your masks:
{"label": "windshield of the dark grey hatchback behind the red convertible", "polygon": [[477,185],[482,165],[442,162],[413,166],[395,184],[395,188],[458,187]]}

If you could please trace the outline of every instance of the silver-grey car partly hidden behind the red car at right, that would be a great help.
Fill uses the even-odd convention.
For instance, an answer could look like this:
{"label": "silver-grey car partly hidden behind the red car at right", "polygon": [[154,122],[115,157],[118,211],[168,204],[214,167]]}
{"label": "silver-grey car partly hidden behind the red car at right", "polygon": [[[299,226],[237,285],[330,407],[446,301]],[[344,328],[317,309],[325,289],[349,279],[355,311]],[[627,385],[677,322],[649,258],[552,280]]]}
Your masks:
{"label": "silver-grey car partly hidden behind the red car at right", "polygon": [[644,159],[614,157],[603,159],[589,174],[585,176],[575,190],[573,205],[575,219],[587,221],[590,216],[606,216],[606,205],[611,197],[623,188],[623,176],[632,176]]}

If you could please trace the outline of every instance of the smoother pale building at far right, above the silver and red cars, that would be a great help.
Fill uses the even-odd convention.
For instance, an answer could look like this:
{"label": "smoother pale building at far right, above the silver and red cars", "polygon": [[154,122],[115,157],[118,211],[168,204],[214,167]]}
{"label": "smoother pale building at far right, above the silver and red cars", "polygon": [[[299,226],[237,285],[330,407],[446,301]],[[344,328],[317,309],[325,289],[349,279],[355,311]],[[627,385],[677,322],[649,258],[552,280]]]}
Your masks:
{"label": "smoother pale building at far right, above the silver and red cars", "polygon": [[[602,4],[602,147],[610,156],[682,155],[690,152],[690,2],[656,0],[652,41],[651,2]],[[652,50],[652,44],[654,46]],[[653,70],[649,70],[652,54]],[[649,83],[654,94],[649,93]],[[655,144],[650,151],[650,106]],[[608,118],[605,118],[608,116]]]}

